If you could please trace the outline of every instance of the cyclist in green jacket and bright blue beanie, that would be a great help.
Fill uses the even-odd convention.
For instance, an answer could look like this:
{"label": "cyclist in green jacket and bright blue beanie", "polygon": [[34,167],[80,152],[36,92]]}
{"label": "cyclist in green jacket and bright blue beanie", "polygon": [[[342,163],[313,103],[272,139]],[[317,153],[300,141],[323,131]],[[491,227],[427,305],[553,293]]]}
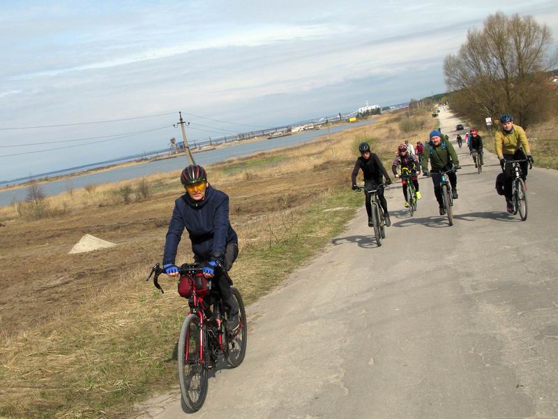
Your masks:
{"label": "cyclist in green jacket and bright blue beanie", "polygon": [[451,184],[451,196],[453,199],[458,198],[458,177],[455,171],[459,168],[459,159],[457,153],[451,142],[442,139],[442,135],[438,131],[432,131],[430,133],[430,141],[426,143],[424,147],[424,159],[423,159],[423,173],[425,176],[430,175],[428,172],[428,161],[430,161],[430,167],[432,168],[432,183],[434,184],[434,194],[439,204],[440,215],[446,214],[444,209],[444,201],[442,200],[442,188],[440,182],[442,182],[442,172],[448,173],[448,179]]}

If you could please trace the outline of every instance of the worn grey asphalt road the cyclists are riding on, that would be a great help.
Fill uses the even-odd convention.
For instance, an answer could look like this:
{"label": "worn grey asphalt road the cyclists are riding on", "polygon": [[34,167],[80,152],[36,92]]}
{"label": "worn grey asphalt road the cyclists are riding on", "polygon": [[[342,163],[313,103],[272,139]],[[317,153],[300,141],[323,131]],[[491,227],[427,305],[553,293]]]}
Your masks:
{"label": "worn grey asphalt road the cyclists are riding on", "polygon": [[[440,115],[453,142],[458,122]],[[430,179],[412,218],[392,187],[382,247],[362,209],[252,305],[246,360],[191,417],[558,418],[558,172],[529,173],[520,221],[495,193],[496,157],[477,175],[458,154],[454,226]],[[176,388],[133,417],[187,416]]]}

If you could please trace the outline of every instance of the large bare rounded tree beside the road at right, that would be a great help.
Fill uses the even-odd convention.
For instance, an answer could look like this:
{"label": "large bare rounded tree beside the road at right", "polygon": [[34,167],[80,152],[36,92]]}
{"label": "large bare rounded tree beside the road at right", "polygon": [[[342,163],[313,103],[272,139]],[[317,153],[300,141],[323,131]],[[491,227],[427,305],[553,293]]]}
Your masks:
{"label": "large bare rounded tree beside the road at right", "polygon": [[558,62],[552,34],[531,16],[490,15],[482,29],[471,29],[457,55],[444,60],[452,108],[479,122],[511,113],[522,126],[546,119],[556,95],[548,71]]}

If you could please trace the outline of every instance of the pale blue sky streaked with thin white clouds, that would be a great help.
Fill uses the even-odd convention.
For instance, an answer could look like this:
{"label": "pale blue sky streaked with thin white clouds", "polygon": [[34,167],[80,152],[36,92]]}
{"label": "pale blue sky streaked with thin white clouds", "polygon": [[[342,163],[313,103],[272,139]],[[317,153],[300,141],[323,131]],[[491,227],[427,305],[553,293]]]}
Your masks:
{"label": "pale blue sky streaked with thin white clouds", "polygon": [[3,0],[0,181],[441,93],[497,11],[558,36],[555,0]]}

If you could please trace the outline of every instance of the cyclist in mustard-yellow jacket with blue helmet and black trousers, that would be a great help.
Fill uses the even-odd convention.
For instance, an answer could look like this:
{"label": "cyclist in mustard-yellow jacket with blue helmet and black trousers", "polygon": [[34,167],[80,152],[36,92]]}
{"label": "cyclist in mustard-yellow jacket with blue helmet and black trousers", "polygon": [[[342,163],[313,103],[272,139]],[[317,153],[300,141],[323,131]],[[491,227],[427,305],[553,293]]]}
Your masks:
{"label": "cyclist in mustard-yellow jacket with blue helmet and black trousers", "polygon": [[522,178],[527,180],[527,162],[533,164],[533,156],[531,156],[531,148],[529,147],[529,140],[522,127],[513,124],[513,117],[509,114],[504,114],[500,117],[500,124],[502,128],[496,131],[494,144],[496,155],[502,166],[504,172],[504,196],[506,197],[506,209],[508,212],[513,212],[513,203],[511,202],[511,182],[512,168],[511,164],[506,164],[508,160],[527,160],[520,163]]}

